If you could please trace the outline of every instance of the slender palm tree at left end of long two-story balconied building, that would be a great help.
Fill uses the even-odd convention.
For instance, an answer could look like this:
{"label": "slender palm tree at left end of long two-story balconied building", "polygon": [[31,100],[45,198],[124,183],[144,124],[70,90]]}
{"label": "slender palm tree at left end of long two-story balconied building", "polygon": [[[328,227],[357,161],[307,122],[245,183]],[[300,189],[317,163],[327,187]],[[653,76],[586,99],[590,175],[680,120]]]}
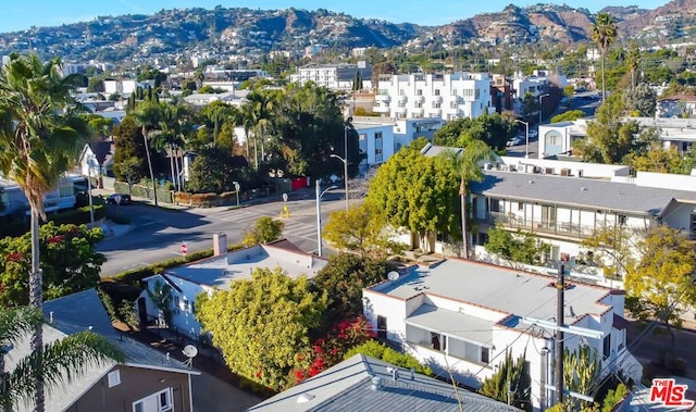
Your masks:
{"label": "slender palm tree at left end of long two-story balconied building", "polygon": [[461,180],[459,183],[459,197],[461,201],[461,253],[462,258],[469,259],[469,236],[467,232],[467,185],[469,182],[483,180],[481,162],[492,158],[488,145],[483,140],[472,139],[463,148],[461,154],[453,151],[445,152],[449,157],[455,167],[459,171]]}

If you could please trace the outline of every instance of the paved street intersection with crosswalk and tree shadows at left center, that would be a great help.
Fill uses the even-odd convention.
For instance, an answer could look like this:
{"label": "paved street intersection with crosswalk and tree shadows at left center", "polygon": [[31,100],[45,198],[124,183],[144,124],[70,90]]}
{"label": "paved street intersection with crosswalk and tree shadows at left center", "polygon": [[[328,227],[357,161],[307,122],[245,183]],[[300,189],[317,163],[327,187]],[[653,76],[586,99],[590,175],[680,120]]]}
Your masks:
{"label": "paved street intersection with crosswalk and tree shadows at left center", "polygon": [[[322,198],[322,224],[328,214],[345,207],[343,190],[327,192]],[[294,196],[287,205],[290,217],[284,219],[283,235],[306,252],[316,250],[316,201],[313,191]],[[279,199],[241,209],[210,208],[191,210],[158,209],[142,204],[109,205],[110,212],[128,216],[134,228],[105,239],[98,250],[107,255],[102,277],[128,269],[181,255],[186,242],[189,252],[212,248],[214,234],[227,234],[228,244],[239,242],[261,216],[278,217],[283,209]]]}

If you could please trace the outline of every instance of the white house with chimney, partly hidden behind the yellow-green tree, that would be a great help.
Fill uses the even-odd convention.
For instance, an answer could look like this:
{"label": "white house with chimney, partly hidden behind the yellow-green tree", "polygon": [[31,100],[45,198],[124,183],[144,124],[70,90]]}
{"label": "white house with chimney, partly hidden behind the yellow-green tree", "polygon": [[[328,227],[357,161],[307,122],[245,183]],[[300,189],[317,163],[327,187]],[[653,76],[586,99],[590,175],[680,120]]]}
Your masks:
{"label": "white house with chimney, partly hidden behind the yellow-green tree", "polygon": [[212,258],[167,269],[142,279],[144,290],[136,302],[142,324],[164,323],[163,310],[152,301],[150,292],[167,285],[173,304],[170,329],[198,340],[202,330],[194,312],[199,295],[212,296],[217,289],[229,290],[233,282],[251,278],[253,270],[259,267],[281,267],[294,278],[300,275],[311,278],[327,263],[325,259],[302,252],[287,240],[225,252],[226,236],[215,235],[214,239],[216,254]]}

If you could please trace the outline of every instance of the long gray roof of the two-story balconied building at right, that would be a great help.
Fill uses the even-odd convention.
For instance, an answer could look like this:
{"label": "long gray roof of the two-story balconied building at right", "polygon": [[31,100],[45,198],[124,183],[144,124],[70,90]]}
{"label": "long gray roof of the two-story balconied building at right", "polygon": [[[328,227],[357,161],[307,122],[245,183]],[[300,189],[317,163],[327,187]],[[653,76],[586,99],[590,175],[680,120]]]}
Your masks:
{"label": "long gray roof of the two-story balconied building at right", "polygon": [[655,216],[673,199],[696,202],[696,191],[529,173],[484,171],[484,175],[483,182],[471,185],[473,193]]}

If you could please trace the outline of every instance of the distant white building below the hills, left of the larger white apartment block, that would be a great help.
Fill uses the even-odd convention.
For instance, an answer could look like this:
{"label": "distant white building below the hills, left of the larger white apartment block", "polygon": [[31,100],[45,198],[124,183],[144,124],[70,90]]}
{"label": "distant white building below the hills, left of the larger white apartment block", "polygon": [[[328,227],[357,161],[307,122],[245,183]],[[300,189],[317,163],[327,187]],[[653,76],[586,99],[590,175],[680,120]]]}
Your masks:
{"label": "distant white building below the hills, left of the larger white apartment block", "polygon": [[358,64],[307,65],[290,75],[290,82],[301,85],[313,82],[316,86],[332,90],[351,90],[356,74],[360,73],[364,89],[372,87],[372,67],[364,61]]}

